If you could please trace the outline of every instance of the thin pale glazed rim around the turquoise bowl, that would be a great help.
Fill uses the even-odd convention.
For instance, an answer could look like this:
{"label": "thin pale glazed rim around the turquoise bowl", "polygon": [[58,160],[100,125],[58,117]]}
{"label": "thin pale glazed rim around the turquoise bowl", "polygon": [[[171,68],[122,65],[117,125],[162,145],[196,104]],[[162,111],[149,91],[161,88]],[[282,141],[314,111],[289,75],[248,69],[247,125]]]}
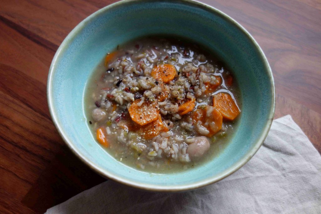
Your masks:
{"label": "thin pale glazed rim around the turquoise bowl", "polygon": [[[175,3],[179,3],[179,4],[188,4],[191,6],[196,6],[199,7],[201,9],[204,9],[210,13],[215,13],[216,15],[221,16],[221,18],[229,21],[231,24],[233,24],[236,28],[238,28],[239,30],[241,30],[250,40],[250,42],[252,42],[252,44],[256,47],[256,49],[259,52],[259,55],[261,56],[262,60],[264,61],[264,66],[265,66],[265,70],[267,71],[267,75],[269,77],[270,80],[270,84],[271,84],[271,107],[270,107],[270,112],[269,112],[269,117],[268,120],[265,123],[264,129],[262,130],[261,136],[257,139],[257,141],[255,142],[254,146],[252,147],[251,150],[249,150],[237,163],[233,164],[232,166],[230,166],[229,168],[227,168],[226,170],[224,170],[222,173],[219,174],[219,176],[211,176],[209,178],[206,178],[204,180],[198,181],[198,182],[194,182],[191,184],[181,184],[181,185],[173,185],[173,186],[161,186],[161,185],[157,185],[157,184],[144,184],[144,183],[139,183],[139,182],[135,182],[129,179],[125,179],[122,178],[118,175],[114,175],[112,173],[110,173],[108,170],[106,169],[102,169],[98,166],[95,165],[94,162],[92,162],[90,159],[88,159],[86,156],[84,156],[78,149],[77,147],[73,144],[73,142],[71,140],[68,139],[67,134],[65,133],[65,131],[63,130],[63,128],[60,126],[59,124],[59,120],[58,120],[58,116],[56,115],[55,112],[55,106],[53,103],[53,98],[52,98],[52,80],[53,80],[53,75],[55,73],[55,67],[56,67],[56,62],[59,59],[59,56],[61,56],[61,54],[66,50],[66,48],[68,47],[68,43],[70,41],[72,41],[77,33],[79,31],[81,31],[90,21],[91,19],[93,19],[94,17],[96,17],[97,15],[100,15],[102,13],[105,13],[106,11],[108,11],[109,9],[113,8],[113,7],[117,7],[120,4],[131,4],[131,3],[141,3],[141,2],[158,2],[158,0],[122,0],[122,1],[118,1],[115,2],[113,4],[109,4],[106,7],[101,8],[100,10],[96,11],[95,13],[92,13],[90,16],[88,16],[87,18],[85,18],[83,21],[81,21],[68,35],[67,37],[64,39],[64,41],[61,43],[61,45],[59,46],[59,48],[56,51],[56,54],[51,62],[50,68],[49,68],[49,73],[48,73],[48,81],[47,81],[47,100],[48,100],[48,107],[49,107],[49,111],[50,111],[50,115],[51,118],[54,122],[54,125],[59,133],[59,135],[62,137],[62,139],[65,141],[65,143],[67,144],[67,146],[69,147],[70,150],[73,151],[73,153],[82,160],[82,162],[84,162],[87,166],[89,166],[92,170],[94,170],[96,173],[98,173],[99,175],[105,177],[105,178],[109,178],[111,180],[117,181],[121,184],[125,184],[127,186],[131,186],[131,187],[135,187],[135,188],[139,188],[139,189],[143,189],[143,190],[148,190],[148,191],[158,191],[158,192],[178,192],[178,191],[186,191],[186,190],[193,190],[196,188],[200,188],[209,184],[213,184],[215,182],[218,182],[220,180],[222,180],[223,178],[233,174],[234,172],[236,172],[237,170],[239,170],[239,168],[241,168],[242,166],[244,166],[247,161],[249,161],[256,153],[256,151],[261,147],[261,145],[263,144],[273,121],[273,117],[274,117],[274,111],[275,111],[275,86],[274,86],[274,79],[273,79],[273,74],[272,74],[272,69],[267,61],[267,58],[263,52],[263,50],[261,49],[261,47],[258,45],[258,43],[256,42],[256,40],[253,38],[253,36],[242,26],[240,25],[237,21],[235,21],[233,18],[231,18],[229,15],[221,12],[220,10],[216,9],[215,7],[212,7],[210,5],[198,2],[196,0],[175,0]],[[174,2],[174,1],[173,1]]]}

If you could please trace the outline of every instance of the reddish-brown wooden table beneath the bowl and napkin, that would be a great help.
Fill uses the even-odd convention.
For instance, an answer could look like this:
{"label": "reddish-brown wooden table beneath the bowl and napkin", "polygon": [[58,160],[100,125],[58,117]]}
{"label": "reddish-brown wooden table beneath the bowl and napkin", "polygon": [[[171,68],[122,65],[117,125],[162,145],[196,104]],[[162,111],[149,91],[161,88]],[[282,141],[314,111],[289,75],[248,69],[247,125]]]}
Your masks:
{"label": "reddish-brown wooden table beneath the bowl and napkin", "polygon": [[[113,0],[0,1],[0,212],[41,213],[105,181],[65,146],[46,83],[65,36]],[[275,118],[290,114],[321,151],[321,2],[204,0],[239,21],[264,50]]]}

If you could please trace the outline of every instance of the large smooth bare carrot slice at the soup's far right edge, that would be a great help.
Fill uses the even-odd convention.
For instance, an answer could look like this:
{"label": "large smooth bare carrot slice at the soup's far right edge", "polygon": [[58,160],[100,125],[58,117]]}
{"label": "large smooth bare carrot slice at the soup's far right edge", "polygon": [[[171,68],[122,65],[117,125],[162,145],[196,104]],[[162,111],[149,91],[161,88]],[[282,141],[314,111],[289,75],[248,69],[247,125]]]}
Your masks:
{"label": "large smooth bare carrot slice at the soup's far right edge", "polygon": [[228,120],[234,120],[240,113],[235,101],[228,93],[215,94],[213,97],[213,106]]}

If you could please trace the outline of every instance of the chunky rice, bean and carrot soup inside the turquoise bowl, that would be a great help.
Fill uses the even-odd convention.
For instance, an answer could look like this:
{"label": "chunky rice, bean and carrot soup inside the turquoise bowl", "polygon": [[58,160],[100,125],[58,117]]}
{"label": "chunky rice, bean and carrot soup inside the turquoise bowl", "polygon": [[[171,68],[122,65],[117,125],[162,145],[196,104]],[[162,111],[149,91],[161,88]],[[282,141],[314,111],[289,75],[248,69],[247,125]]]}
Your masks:
{"label": "chunky rice, bean and carrot soup inside the turquoise bowl", "polygon": [[87,85],[84,105],[98,143],[149,172],[215,158],[240,114],[231,71],[183,39],[148,37],[117,46]]}

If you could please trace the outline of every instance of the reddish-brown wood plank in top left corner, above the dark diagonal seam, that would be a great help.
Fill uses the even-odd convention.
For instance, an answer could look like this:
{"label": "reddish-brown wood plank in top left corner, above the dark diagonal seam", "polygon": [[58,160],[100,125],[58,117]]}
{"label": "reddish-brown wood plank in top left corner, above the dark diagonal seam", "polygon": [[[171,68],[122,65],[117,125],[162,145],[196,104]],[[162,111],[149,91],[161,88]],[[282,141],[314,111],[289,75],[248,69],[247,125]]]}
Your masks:
{"label": "reddish-brown wood plank in top left corner, above the dark diagonal seam", "polygon": [[59,46],[80,21],[98,9],[83,0],[2,0],[0,16],[30,32],[27,36],[37,35]]}

